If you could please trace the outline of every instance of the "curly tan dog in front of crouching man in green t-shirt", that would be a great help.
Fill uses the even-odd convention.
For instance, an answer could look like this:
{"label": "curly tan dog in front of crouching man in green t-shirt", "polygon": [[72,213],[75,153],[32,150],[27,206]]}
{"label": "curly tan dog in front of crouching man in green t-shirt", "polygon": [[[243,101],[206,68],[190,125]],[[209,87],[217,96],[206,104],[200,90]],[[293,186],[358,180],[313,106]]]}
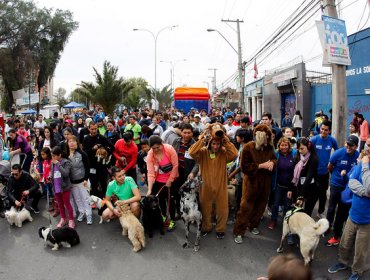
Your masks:
{"label": "curly tan dog in front of crouching man in green t-shirt", "polygon": [[122,214],[121,217],[119,217],[122,226],[122,235],[128,235],[128,238],[134,246],[132,249],[134,252],[140,251],[145,247],[145,235],[142,224],[131,212],[129,204],[118,200],[115,205],[119,207]]}

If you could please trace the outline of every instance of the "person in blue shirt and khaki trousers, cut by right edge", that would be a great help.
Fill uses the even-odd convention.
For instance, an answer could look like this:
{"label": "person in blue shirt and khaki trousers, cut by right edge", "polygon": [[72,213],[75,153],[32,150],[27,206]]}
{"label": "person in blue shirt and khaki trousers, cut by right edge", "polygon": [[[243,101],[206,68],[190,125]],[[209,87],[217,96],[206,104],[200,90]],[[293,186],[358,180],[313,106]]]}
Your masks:
{"label": "person in blue shirt and khaki trousers, cut by right edge", "polygon": [[[367,139],[370,144],[370,139]],[[336,273],[348,269],[351,263],[351,252],[354,252],[352,262],[352,274],[348,279],[360,279],[363,272],[368,269],[367,257],[370,252],[370,148],[366,150],[366,156],[355,168],[358,176],[349,180],[349,188],[353,192],[352,206],[349,217],[343,230],[339,244],[338,263],[328,269],[329,273]],[[357,170],[356,170],[357,171]]]}

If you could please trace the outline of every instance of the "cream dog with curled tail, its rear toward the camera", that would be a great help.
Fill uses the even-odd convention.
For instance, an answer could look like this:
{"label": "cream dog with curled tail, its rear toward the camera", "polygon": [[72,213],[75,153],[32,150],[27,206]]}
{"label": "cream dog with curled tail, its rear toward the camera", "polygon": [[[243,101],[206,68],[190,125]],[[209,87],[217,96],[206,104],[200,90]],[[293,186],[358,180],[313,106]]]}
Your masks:
{"label": "cream dog with curled tail, its rear toward the camera", "polygon": [[283,242],[288,233],[298,234],[301,254],[305,265],[308,265],[314,258],[320,235],[326,232],[328,228],[329,221],[327,219],[320,219],[318,222],[315,222],[304,212],[296,212],[291,216],[287,214],[284,219],[283,235],[281,236],[281,243],[277,252],[281,253],[283,251]]}

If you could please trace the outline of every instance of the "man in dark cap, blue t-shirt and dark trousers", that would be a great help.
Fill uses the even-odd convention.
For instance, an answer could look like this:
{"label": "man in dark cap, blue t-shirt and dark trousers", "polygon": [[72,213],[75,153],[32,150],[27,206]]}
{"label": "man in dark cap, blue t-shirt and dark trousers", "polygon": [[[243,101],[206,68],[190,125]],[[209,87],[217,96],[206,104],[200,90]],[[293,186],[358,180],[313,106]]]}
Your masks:
{"label": "man in dark cap, blue t-shirt and dark trousers", "polygon": [[[339,211],[339,203],[341,200],[341,194],[346,188],[348,183],[348,172],[353,166],[357,164],[357,158],[359,152],[357,151],[358,137],[355,135],[350,135],[346,141],[346,147],[336,150],[330,157],[328,170],[331,173],[330,177],[330,198],[329,207],[326,214],[330,224],[333,224],[334,215],[336,220],[340,219],[340,216],[348,216],[348,211]],[[338,207],[338,208],[337,208]],[[343,208],[343,207],[341,207]],[[347,217],[345,217],[343,222]],[[342,225],[343,226],[343,225]],[[339,236],[334,236],[330,238],[327,242],[327,246],[338,245]]]}

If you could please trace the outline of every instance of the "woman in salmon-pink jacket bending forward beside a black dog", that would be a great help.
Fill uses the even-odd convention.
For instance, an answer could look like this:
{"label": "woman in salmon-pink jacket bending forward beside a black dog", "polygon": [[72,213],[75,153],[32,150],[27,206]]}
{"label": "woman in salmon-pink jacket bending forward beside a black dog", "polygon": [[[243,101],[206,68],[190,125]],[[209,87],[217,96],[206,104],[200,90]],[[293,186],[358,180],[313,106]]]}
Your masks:
{"label": "woman in salmon-pink jacket bending forward beside a black dog", "polygon": [[[152,135],[149,138],[150,151],[148,152],[147,168],[148,168],[148,193],[147,196],[154,194],[159,198],[159,203],[162,210],[162,215],[170,214],[170,223],[168,230],[172,231],[175,228],[176,207],[174,197],[170,196],[169,210],[166,210],[166,198],[169,190],[163,189],[164,186],[170,188],[173,181],[179,176],[178,173],[178,157],[175,149],[169,144],[163,144],[162,139],[157,135]],[[168,200],[168,198],[167,198]],[[169,212],[169,213],[167,213]]]}

